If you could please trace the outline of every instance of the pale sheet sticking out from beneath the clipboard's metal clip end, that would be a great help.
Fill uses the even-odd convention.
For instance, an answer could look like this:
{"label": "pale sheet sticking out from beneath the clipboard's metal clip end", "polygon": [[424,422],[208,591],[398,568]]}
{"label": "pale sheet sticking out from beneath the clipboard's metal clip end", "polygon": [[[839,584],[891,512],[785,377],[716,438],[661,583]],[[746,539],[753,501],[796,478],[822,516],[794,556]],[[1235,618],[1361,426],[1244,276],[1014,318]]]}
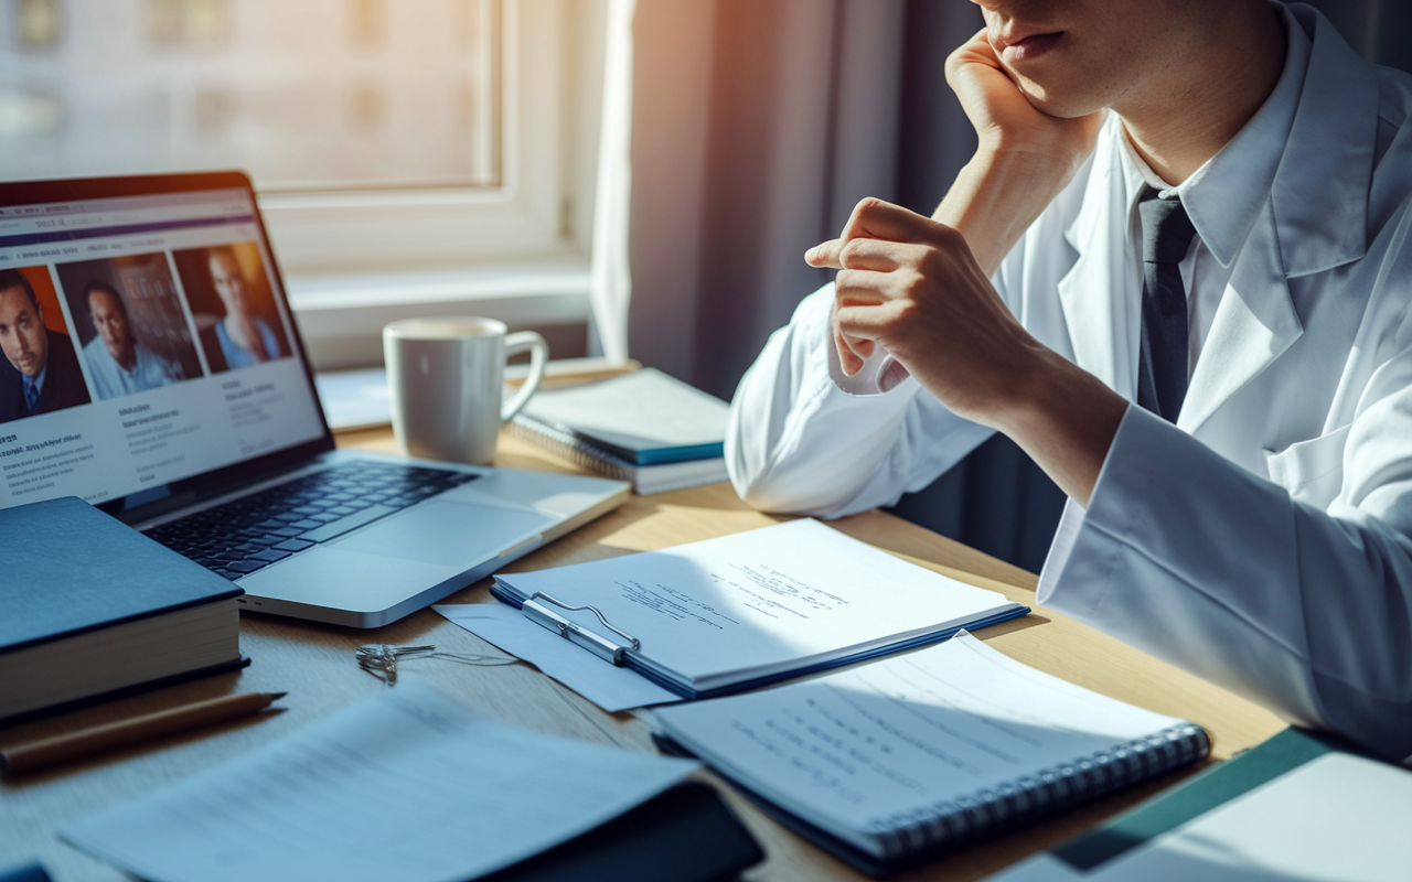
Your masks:
{"label": "pale sheet sticking out from beneath the clipboard's metal clip end", "polygon": [[609,665],[505,604],[439,604],[432,607],[476,636],[530,662],[609,713],[681,701],[627,667]]}

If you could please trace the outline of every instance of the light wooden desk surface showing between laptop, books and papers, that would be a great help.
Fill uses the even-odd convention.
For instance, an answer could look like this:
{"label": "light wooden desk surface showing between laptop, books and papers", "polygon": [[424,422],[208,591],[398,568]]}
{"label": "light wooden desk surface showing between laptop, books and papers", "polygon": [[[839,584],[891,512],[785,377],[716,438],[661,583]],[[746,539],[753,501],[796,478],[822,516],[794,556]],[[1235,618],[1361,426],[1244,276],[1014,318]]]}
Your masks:
{"label": "light wooden desk surface showing between laptop, books and papers", "polygon": [[[395,452],[388,430],[345,435],[340,445]],[[508,437],[501,440],[497,463],[572,471],[562,460]],[[508,569],[542,569],[650,550],[765,526],[774,521],[775,518],[748,509],[727,484],[633,497],[616,512]],[[1034,605],[1034,574],[892,515],[871,511],[839,521],[834,526],[921,566]],[[487,600],[489,580],[483,580],[452,596],[449,603]],[[1207,727],[1216,737],[1217,758],[1258,744],[1282,728],[1279,720],[1268,711],[1045,608],[1036,608],[1025,618],[986,628],[979,636],[1042,670]],[[385,689],[359,670],[353,651],[360,644],[436,644],[452,652],[501,655],[494,646],[429,610],[377,631],[246,614],[240,642],[254,659],[240,673],[0,730],[0,745],[4,745],[232,691],[289,691],[282,703],[288,710],[273,717],[168,738],[49,775],[0,785],[0,868],[38,858],[56,882],[126,879],[112,866],[61,842],[55,830],[80,814],[223,762]],[[424,677],[466,704],[508,723],[635,751],[652,749],[644,721],[630,713],[606,714],[528,665],[467,667],[453,662],[414,660],[404,663],[400,673],[404,677]],[[966,850],[901,879],[963,881],[983,876],[1097,824],[1180,776],[1169,776]],[[730,793],[724,785],[722,789],[770,855],[765,864],[750,872],[750,879],[782,882],[861,878],[786,833]]]}

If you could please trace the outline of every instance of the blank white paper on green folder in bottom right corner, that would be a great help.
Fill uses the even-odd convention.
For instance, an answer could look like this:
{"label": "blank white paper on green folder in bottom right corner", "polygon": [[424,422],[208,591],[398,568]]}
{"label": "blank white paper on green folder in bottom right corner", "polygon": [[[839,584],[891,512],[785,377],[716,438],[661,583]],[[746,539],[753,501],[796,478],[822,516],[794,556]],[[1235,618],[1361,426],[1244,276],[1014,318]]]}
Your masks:
{"label": "blank white paper on green folder in bottom right corner", "polygon": [[1412,772],[1326,754],[1087,871],[1052,854],[991,882],[1405,882]]}

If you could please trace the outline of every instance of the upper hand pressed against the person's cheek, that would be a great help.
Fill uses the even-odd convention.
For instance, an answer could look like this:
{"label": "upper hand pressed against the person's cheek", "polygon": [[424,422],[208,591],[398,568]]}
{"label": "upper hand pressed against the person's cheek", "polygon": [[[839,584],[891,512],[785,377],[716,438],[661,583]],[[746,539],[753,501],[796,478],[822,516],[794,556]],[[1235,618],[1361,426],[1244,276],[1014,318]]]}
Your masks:
{"label": "upper hand pressed against the person's cheek", "polygon": [[1103,124],[1101,111],[1060,119],[1031,104],[1001,65],[984,28],[946,58],[946,82],[976,127],[981,152],[1034,155],[1063,182],[1093,150]]}

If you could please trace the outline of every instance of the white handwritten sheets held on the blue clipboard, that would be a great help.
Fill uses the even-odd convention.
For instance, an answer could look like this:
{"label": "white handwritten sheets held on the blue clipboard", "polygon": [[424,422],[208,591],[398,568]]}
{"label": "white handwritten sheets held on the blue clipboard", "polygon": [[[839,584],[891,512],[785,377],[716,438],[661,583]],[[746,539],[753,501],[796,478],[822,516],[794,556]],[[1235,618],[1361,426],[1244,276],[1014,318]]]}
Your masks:
{"label": "white handwritten sheets held on the blue clipboard", "polygon": [[[810,519],[497,580],[597,607],[647,663],[699,687],[1018,608]],[[602,629],[592,614],[565,617]]]}

